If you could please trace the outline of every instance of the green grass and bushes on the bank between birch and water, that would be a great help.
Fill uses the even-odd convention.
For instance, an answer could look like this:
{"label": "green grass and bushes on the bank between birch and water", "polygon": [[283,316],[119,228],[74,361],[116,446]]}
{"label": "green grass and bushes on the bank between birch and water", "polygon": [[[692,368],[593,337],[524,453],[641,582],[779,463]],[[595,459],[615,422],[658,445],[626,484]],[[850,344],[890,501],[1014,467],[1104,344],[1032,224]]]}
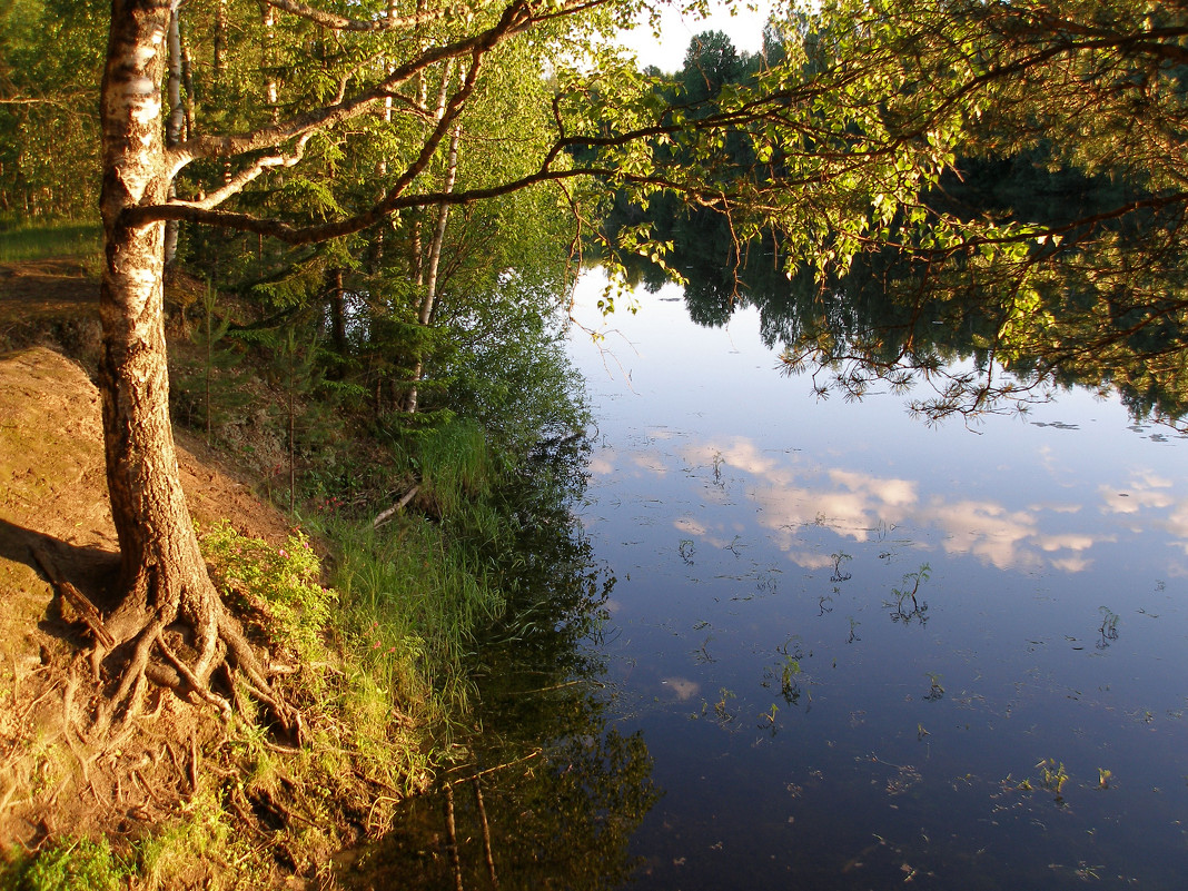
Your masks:
{"label": "green grass and bushes on the bank between birch and water", "polygon": [[[38,238],[69,227],[27,230],[40,258],[86,265],[71,240]],[[10,848],[0,886],[259,887],[285,872],[330,880],[334,852],[383,834],[407,796],[473,759],[484,642],[532,623],[551,632],[567,611],[595,608],[584,588],[581,604],[548,602],[522,579],[574,535],[574,479],[562,485],[549,455],[574,448],[587,415],[556,320],[525,311],[525,329],[505,322],[500,337],[454,349],[457,386],[426,388],[417,416],[384,421],[361,387],[327,374],[316,320],[286,316],[289,333],[261,334],[252,320],[267,307],[227,292],[211,299],[189,276],[170,293],[181,314],[176,423],[209,436],[280,508],[293,498],[297,531],[283,545],[227,524],[198,533],[223,599],[290,672],[277,688],[301,704],[305,742],[278,751],[241,690],[172,820],[131,845],[64,836],[36,858]],[[297,368],[299,341],[315,361],[299,355]],[[520,753],[536,748],[525,740]],[[267,845],[248,816],[261,802],[280,815]]]}

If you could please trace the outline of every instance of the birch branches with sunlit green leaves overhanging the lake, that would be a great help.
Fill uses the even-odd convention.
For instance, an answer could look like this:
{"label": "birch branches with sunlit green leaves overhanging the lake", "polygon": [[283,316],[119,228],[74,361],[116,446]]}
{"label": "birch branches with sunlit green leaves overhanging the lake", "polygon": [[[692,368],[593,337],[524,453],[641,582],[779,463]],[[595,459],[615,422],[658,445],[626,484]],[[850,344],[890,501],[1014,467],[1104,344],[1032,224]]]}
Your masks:
{"label": "birch branches with sunlit green leaves overhanging the lake", "polygon": [[[204,133],[200,122],[200,132],[166,153],[172,172],[202,159],[238,159],[238,169],[213,170],[206,184],[183,185],[181,197],[131,208],[128,223],[185,220],[302,244],[360,232],[405,209],[472,204],[581,177],[642,203],[669,192],[728,211],[741,242],[775,228],[786,257],[822,270],[845,268],[854,254],[889,242],[942,254],[975,247],[994,260],[1067,227],[987,225],[939,213],[924,195],[959,152],[1018,151],[1041,139],[1059,146],[1062,163],[1089,173],[1123,169],[1148,187],[1117,216],[1184,203],[1175,151],[1183,109],[1169,65],[1184,52],[1186,32],[1156,7],[835,0],[816,13],[775,18],[778,58],[769,55],[747,82],[693,100],[665,93],[595,42],[624,12],[611,0],[480,4],[461,15],[457,7],[421,7],[400,17],[390,6],[359,20],[274,6],[330,30],[335,46],[322,68],[336,78],[333,100],[293,95],[273,106],[276,120],[239,132]],[[368,52],[359,44],[397,37],[400,62],[387,45]],[[507,52],[517,42],[532,46],[527,58]],[[453,59],[465,74],[434,114],[423,80]],[[512,148],[512,169],[446,191],[424,175],[455,122],[465,141],[484,139],[470,106],[498,88],[505,64],[550,72],[551,133],[529,150]],[[375,200],[356,195],[330,219],[307,223],[221,209],[266,172],[299,165],[311,139],[358,141],[350,128],[385,103],[403,120],[384,150],[399,163],[387,166]],[[732,151],[738,145],[746,151]],[[662,255],[656,247],[663,246],[642,244]]]}

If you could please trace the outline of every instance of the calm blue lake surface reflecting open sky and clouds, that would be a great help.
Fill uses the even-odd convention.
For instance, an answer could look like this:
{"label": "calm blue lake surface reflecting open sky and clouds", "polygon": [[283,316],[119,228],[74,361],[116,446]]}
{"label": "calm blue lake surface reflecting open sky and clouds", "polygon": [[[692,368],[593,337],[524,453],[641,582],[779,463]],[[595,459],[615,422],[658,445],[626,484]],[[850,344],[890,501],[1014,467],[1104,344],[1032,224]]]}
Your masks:
{"label": "calm blue lake surface reflecting open sky and clouds", "polygon": [[640,303],[571,339],[608,726],[661,792],[628,884],[1183,887],[1188,442],[1079,391],[820,400],[754,311]]}

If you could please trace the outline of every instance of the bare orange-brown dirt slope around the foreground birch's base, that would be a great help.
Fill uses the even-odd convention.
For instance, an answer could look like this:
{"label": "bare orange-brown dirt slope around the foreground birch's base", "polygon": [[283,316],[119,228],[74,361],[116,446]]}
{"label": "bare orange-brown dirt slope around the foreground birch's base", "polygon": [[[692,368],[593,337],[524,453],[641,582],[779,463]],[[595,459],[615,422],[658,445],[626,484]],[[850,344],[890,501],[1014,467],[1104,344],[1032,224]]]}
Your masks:
{"label": "bare orange-brown dirt slope around the foreground birch's base", "polygon": [[[93,298],[68,303],[94,314]],[[226,518],[246,535],[285,539],[282,514],[198,442],[179,435],[178,446],[200,522]],[[63,829],[138,832],[179,807],[213,728],[160,694],[156,720],[119,748],[77,735],[64,719],[90,707],[94,688],[77,682],[87,630],[37,550],[100,608],[109,605],[118,556],[99,393],[78,364],[45,347],[0,355],[0,845],[34,846]]]}

